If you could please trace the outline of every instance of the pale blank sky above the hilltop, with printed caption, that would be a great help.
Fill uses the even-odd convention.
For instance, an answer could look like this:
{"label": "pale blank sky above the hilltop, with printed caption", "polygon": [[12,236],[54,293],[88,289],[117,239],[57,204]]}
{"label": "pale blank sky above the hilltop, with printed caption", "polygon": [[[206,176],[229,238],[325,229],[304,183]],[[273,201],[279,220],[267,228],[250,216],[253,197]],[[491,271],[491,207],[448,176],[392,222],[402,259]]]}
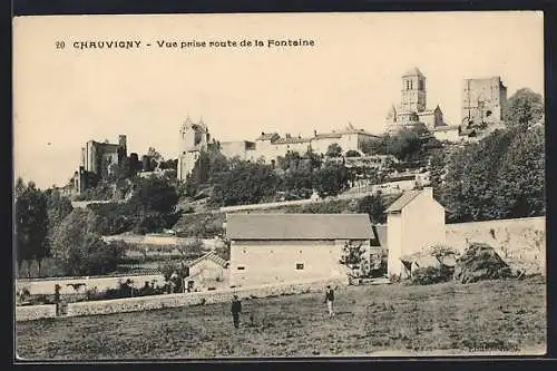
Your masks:
{"label": "pale blank sky above the hilltop, with printed caption", "polygon": [[[157,46],[244,39],[265,46]],[[314,46],[268,48],[268,39]],[[118,40],[141,48],[74,48]],[[466,78],[500,76],[509,97],[522,87],[544,94],[544,19],[534,11],[20,17],[13,66],[14,176],[46,188],[67,184],[90,139],[125,134],[128,153],[155,147],[176,158],[187,116],[222,141],[349,123],[381,134],[412,67],[427,77],[428,108],[439,105],[456,125]]]}

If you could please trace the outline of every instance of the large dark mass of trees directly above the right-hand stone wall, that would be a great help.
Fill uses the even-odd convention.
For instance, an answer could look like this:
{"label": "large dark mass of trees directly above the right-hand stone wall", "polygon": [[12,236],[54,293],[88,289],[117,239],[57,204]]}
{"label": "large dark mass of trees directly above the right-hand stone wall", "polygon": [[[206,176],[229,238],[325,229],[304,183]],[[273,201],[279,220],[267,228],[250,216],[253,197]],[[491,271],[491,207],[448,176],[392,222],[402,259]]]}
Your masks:
{"label": "large dark mass of trees directly above the right-hand stone wall", "polygon": [[442,188],[449,222],[545,214],[544,131],[496,130],[457,150]]}

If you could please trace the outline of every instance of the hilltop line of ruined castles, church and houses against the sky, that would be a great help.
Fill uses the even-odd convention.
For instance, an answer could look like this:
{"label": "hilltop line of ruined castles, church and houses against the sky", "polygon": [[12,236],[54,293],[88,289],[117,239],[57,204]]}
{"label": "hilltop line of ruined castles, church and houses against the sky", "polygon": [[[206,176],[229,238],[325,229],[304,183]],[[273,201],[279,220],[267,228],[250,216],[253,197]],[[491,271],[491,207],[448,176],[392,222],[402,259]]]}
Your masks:
{"label": "hilltop line of ruined castles, church and houses against the sky", "polygon": [[[373,144],[380,141],[384,136],[397,137],[404,130],[416,134],[410,138],[429,147],[456,147],[466,143],[478,141],[489,133],[504,127],[504,111],[507,104],[507,88],[500,77],[466,79],[462,82],[462,109],[460,123],[446,123],[440,105],[428,108],[426,76],[418,69],[412,68],[401,76],[402,90],[400,104],[392,106],[384,121],[384,133],[375,135],[363,128],[355,128],[352,124],[333,130],[332,133],[317,133],[313,136],[302,137],[280,133],[261,131],[255,139],[242,139],[236,141],[219,141],[212,138],[209,127],[201,119],[194,123],[189,117],[179,127],[180,148],[177,164],[169,162],[153,165],[153,155],[146,154],[140,159],[136,153],[128,157],[126,136],[120,135],[118,143],[98,143],[90,140],[81,148],[81,160],[79,169],[74,175],[70,184],[63,189],[68,195],[78,195],[94,187],[100,178],[106,178],[114,172],[114,167],[126,165],[136,168],[141,176],[149,176],[152,172],[176,170],[179,182],[185,182],[192,174],[202,153],[216,149],[227,159],[241,159],[246,162],[263,162],[277,166],[280,158],[289,154],[307,157],[307,154],[328,157],[342,157],[349,167],[359,167],[358,178],[365,178],[367,173],[381,170],[389,177],[397,179],[411,179],[413,185],[397,183],[395,179],[383,186],[387,188],[401,187],[401,189],[423,186],[428,184],[428,175],[416,172],[416,166],[404,164],[397,169],[390,169],[389,164],[400,162],[398,156],[389,154],[389,150],[373,148]],[[377,146],[375,146],[377,147]],[[338,150],[338,153],[331,153]],[[400,157],[400,156],[399,156]],[[423,156],[422,156],[423,157]],[[421,158],[424,159],[424,158]],[[423,165],[423,164],[422,164]],[[412,168],[413,167],[413,168]],[[426,166],[421,167],[423,170]],[[426,172],[423,172],[426,173]],[[413,177],[413,179],[412,179]],[[424,178],[422,180],[421,178]],[[394,183],[393,183],[394,182]],[[356,184],[371,185],[373,182],[360,182]]]}

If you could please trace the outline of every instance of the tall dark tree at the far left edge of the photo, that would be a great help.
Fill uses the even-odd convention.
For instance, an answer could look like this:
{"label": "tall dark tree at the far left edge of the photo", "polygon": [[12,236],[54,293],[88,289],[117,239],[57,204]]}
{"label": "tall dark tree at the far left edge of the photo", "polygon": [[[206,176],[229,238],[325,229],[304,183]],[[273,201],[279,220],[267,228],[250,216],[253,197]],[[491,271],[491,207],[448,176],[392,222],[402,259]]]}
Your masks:
{"label": "tall dark tree at the far left edge of the photo", "polygon": [[16,246],[17,261],[37,260],[49,254],[47,197],[29,182],[19,178],[16,184]]}

